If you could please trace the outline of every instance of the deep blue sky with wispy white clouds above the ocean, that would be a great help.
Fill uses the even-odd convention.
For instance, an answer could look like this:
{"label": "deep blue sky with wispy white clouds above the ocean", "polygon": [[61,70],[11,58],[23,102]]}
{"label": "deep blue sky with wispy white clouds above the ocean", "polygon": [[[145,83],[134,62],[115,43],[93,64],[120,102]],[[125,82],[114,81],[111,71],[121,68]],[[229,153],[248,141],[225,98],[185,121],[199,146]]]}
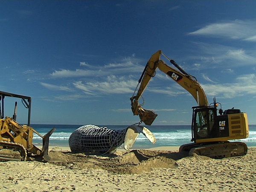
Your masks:
{"label": "deep blue sky with wispy white clouds above the ocean", "polygon": [[[0,90],[32,97],[32,124],[132,125],[140,119],[130,97],[162,50],[209,103],[256,124],[255,8],[254,0],[1,0]],[[160,70],[143,97],[158,114],[152,125],[191,125],[197,102]],[[7,100],[12,116],[17,99]]]}

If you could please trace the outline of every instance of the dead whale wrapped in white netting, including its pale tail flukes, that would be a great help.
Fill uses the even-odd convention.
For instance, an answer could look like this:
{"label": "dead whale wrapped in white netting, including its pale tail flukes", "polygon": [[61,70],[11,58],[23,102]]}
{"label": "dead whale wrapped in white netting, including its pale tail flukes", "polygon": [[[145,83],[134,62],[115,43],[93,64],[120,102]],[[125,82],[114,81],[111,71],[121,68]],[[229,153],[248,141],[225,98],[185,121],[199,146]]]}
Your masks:
{"label": "dead whale wrapped in white netting, including its pale tail flukes", "polygon": [[69,138],[72,153],[111,153],[122,143],[124,149],[129,150],[140,133],[150,140],[156,142],[154,135],[147,128],[140,125],[131,125],[122,130],[111,130],[96,125],[83,125],[76,129]]}

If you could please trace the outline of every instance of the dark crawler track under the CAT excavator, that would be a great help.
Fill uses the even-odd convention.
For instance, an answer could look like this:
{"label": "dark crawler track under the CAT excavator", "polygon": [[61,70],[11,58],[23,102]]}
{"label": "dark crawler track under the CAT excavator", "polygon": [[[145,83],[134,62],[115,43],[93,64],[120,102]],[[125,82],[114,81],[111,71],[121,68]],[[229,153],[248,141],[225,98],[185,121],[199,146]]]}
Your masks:
{"label": "dark crawler track under the CAT excavator", "polygon": [[247,145],[243,142],[222,142],[210,144],[186,144],[180,151],[189,153],[189,156],[198,154],[215,159],[224,157],[237,157],[247,154]]}

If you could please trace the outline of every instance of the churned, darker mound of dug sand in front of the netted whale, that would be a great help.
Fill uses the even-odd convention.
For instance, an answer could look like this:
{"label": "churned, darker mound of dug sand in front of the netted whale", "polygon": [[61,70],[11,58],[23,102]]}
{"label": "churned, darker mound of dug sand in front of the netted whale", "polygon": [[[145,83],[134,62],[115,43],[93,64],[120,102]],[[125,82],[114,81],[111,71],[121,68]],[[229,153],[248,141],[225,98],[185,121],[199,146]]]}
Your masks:
{"label": "churned, darker mound of dug sand in front of the netted whale", "polygon": [[149,172],[152,168],[171,168],[177,166],[174,159],[182,156],[179,152],[132,150],[130,152],[116,151],[107,156],[71,154],[60,151],[50,151],[52,161],[49,163],[67,166],[70,169],[105,169],[117,174],[138,174]]}

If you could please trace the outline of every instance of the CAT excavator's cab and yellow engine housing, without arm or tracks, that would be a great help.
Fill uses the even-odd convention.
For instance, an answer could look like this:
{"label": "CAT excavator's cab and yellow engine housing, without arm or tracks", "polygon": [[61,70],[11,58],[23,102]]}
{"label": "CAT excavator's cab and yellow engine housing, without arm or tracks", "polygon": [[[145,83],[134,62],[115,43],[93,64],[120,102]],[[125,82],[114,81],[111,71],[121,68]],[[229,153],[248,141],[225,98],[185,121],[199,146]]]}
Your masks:
{"label": "CAT excavator's cab and yellow engine housing, without arm or tracks", "polygon": [[247,138],[246,113],[241,113],[239,109],[227,109],[223,113],[218,108],[220,103],[216,103],[215,98],[213,101],[209,106],[192,108],[192,141],[205,143]]}

